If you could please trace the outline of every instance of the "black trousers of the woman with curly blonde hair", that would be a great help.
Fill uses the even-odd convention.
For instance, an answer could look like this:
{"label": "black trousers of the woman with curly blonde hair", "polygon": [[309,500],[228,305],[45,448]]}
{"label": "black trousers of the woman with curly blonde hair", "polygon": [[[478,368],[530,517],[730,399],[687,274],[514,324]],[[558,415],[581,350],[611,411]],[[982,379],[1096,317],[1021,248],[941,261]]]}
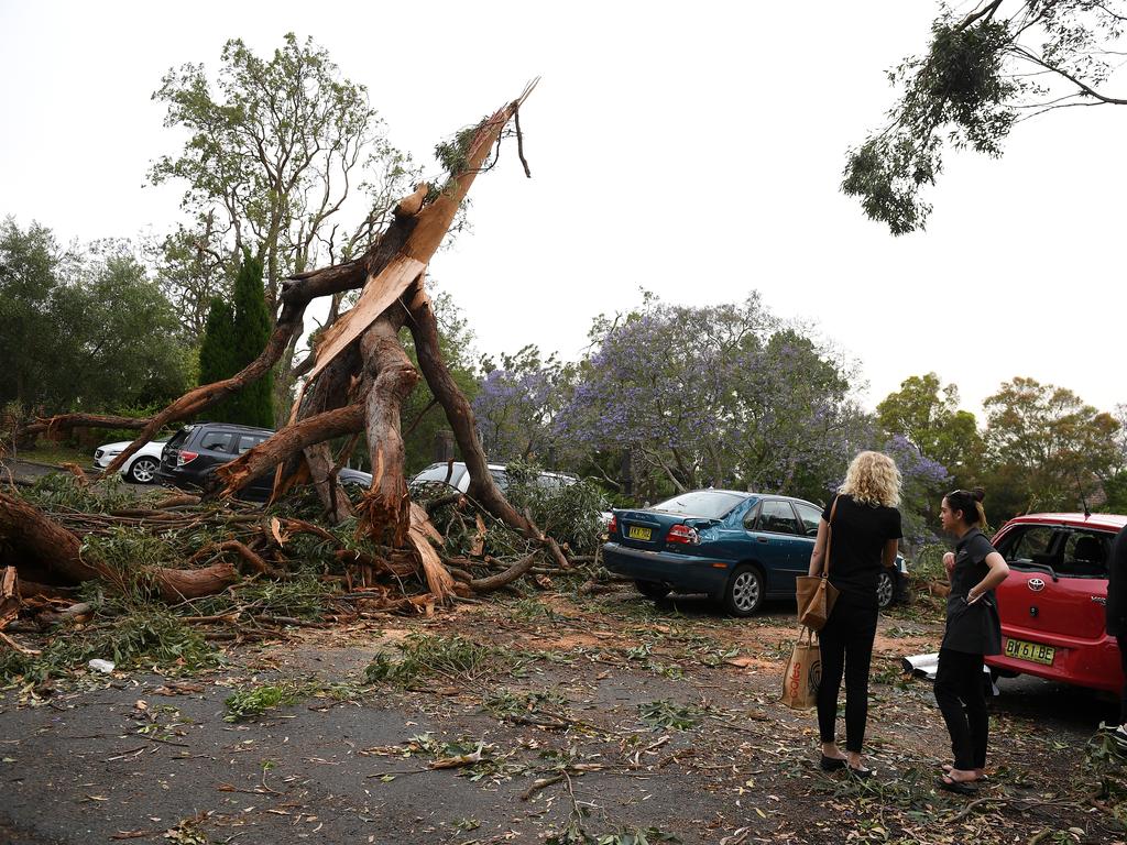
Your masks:
{"label": "black trousers of the woman with curly blonde hair", "polygon": [[877,637],[877,606],[859,606],[838,596],[822,642],[822,682],[818,685],[818,732],[823,742],[835,742],[837,693],[845,676],[845,750],[860,754],[869,719],[869,666]]}

